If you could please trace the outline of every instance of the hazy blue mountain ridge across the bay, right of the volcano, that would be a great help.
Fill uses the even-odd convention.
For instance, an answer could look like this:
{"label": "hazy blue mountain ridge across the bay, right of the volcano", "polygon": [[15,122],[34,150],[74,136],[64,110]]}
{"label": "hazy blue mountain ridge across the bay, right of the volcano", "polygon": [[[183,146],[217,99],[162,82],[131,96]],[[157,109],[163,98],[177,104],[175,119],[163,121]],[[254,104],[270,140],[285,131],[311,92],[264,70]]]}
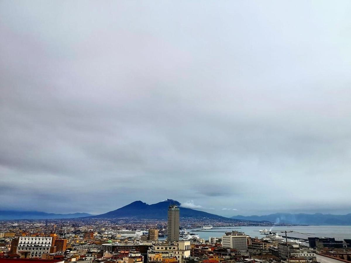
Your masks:
{"label": "hazy blue mountain ridge across the bay, right of the volcano", "polygon": [[265,216],[232,216],[231,218],[240,220],[267,220],[276,223],[286,224],[308,224],[308,225],[351,225],[351,214],[331,215],[331,214],[289,214],[276,213]]}

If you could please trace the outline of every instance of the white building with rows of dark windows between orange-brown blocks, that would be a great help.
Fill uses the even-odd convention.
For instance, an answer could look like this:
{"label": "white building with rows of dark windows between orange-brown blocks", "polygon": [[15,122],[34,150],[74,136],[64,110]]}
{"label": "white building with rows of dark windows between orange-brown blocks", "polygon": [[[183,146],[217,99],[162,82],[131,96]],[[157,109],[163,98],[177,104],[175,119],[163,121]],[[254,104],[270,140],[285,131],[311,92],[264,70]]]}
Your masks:
{"label": "white building with rows of dark windows between orange-brown blocks", "polygon": [[30,257],[41,257],[42,254],[50,253],[52,237],[47,236],[21,236],[18,240],[18,252],[28,252]]}

